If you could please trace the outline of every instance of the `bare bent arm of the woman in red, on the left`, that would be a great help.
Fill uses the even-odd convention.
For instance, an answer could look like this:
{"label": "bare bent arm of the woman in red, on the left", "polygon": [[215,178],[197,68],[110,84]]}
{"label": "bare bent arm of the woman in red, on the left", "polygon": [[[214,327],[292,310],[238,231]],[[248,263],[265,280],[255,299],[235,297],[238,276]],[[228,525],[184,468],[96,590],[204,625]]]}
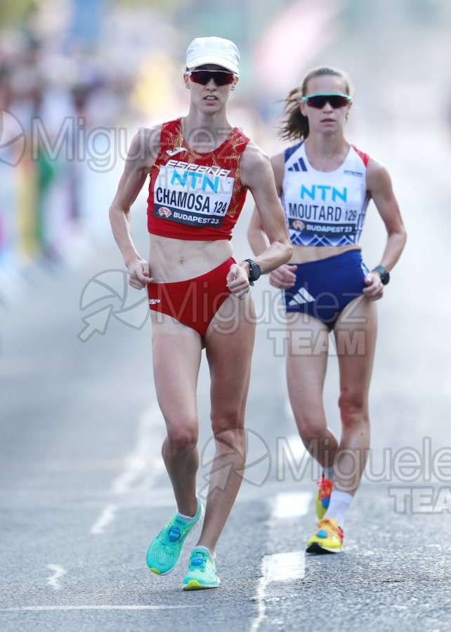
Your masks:
{"label": "bare bent arm of the woman in red, on the left", "polygon": [[[157,142],[155,142],[157,141]],[[143,188],[149,169],[159,150],[159,128],[140,130],[131,141],[124,173],[110,206],[110,223],[116,243],[129,270],[129,284],[143,289],[152,282],[148,262],[136,250],[131,239],[131,205]]]}

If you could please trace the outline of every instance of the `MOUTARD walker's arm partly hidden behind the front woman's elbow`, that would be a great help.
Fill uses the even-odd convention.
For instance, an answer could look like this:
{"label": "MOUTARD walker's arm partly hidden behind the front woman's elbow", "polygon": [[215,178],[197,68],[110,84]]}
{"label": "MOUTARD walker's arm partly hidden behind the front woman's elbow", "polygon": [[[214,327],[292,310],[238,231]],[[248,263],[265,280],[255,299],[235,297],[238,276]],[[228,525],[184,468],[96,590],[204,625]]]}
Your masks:
{"label": "MOUTARD walker's arm partly hidden behind the front woman's elbow", "polygon": [[[280,196],[282,192],[282,182],[285,169],[284,154],[277,154],[270,159],[270,164],[273,168],[275,187],[277,196]],[[285,217],[284,217],[285,223]],[[265,230],[263,229],[263,222],[259,213],[258,207],[254,209],[252,213],[251,221],[249,223],[249,229],[247,230],[247,239],[252,251],[256,255],[261,255],[266,249],[268,249],[268,239],[266,238]],[[273,272],[270,272],[269,282],[273,287],[279,289],[289,289],[293,287],[296,281],[296,275],[294,275],[296,265],[281,265]]]}

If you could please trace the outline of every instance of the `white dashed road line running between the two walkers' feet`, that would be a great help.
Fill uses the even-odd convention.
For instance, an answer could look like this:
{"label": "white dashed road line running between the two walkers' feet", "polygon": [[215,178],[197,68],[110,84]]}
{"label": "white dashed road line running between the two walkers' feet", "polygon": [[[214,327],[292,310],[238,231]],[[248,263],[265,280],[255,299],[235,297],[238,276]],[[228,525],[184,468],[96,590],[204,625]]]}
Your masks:
{"label": "white dashed road line running between the two walkers' feet", "polygon": [[[268,521],[268,541],[266,548],[275,549],[280,542],[280,520],[306,515],[313,500],[311,492],[287,492],[277,494],[273,511]],[[257,632],[266,616],[265,599],[268,586],[273,581],[292,581],[305,575],[305,555],[303,551],[288,551],[264,555],[261,560],[261,578],[255,600],[257,614],[252,621],[250,632]]]}

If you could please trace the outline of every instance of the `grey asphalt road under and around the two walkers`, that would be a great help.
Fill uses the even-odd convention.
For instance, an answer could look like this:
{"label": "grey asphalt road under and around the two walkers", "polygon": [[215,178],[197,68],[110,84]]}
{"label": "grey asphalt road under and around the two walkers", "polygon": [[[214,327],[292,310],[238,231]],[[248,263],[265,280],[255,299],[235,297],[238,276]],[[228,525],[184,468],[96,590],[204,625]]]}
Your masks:
{"label": "grey asphalt road under and around the two walkers", "polygon": [[[145,303],[135,305],[142,297],[122,285],[117,252],[105,241],[58,273],[32,271],[1,312],[2,631],[451,629],[451,305],[437,274],[448,260],[450,185],[438,162],[420,174],[406,157],[393,174],[410,241],[379,305],[372,454],[342,555],[303,553],[318,471],[287,407],[273,294],[266,279],[256,286],[248,465],[216,551],[216,591],[181,591],[189,547],[166,577],[145,566],[174,501],[159,456],[150,323]],[[370,265],[382,238],[370,216]],[[248,255],[242,234],[236,252]],[[329,365],[326,407],[338,431],[334,357]],[[200,490],[208,393],[203,364]]]}

